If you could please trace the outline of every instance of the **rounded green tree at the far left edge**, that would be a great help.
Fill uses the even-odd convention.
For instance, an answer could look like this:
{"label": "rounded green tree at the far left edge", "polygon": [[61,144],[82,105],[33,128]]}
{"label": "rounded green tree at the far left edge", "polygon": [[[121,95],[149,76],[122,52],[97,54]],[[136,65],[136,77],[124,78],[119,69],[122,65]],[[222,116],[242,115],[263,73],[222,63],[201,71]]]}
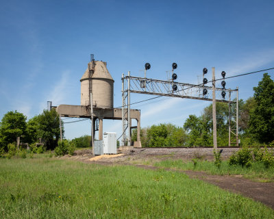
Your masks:
{"label": "rounded green tree at the far left edge", "polygon": [[16,110],[7,112],[0,123],[0,147],[8,150],[8,144],[16,142],[16,137],[25,135],[27,116]]}

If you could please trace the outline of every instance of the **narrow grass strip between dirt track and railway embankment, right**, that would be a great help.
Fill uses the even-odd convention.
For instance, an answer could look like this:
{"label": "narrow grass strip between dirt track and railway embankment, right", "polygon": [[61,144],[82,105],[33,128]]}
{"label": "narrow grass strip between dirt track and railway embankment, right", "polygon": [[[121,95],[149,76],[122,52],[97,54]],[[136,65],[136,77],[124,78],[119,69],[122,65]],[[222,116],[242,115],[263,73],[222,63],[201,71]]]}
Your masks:
{"label": "narrow grass strip between dirt track and railway embankment, right", "polygon": [[157,162],[154,166],[164,168],[175,168],[177,170],[199,170],[206,171],[212,175],[242,175],[247,179],[261,182],[274,182],[274,167],[265,168],[264,164],[255,162],[250,168],[242,166],[230,166],[228,161],[223,161],[221,167],[217,168],[214,162],[197,160],[196,166],[193,162],[185,162],[182,159],[166,159],[162,162]]}

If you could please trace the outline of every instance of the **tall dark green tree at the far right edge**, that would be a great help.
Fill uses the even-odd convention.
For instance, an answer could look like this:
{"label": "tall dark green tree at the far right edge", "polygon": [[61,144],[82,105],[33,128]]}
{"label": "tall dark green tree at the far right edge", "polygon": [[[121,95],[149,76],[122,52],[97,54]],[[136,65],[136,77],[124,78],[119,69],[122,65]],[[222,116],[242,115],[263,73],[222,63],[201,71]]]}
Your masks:
{"label": "tall dark green tree at the far right edge", "polygon": [[254,87],[256,107],[250,114],[249,131],[261,143],[274,140],[274,81],[265,73]]}

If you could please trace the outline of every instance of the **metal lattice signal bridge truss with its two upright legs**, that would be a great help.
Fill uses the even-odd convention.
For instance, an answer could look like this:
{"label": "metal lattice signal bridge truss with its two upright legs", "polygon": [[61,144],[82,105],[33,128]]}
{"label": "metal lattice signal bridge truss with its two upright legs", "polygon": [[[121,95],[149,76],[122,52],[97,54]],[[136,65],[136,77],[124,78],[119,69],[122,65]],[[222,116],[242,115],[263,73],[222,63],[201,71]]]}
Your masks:
{"label": "metal lattice signal bridge truss with its two upright legs", "polygon": [[[207,94],[203,94],[206,88]],[[225,96],[222,96],[222,92]],[[152,94],[157,96],[171,96],[186,99],[197,99],[203,101],[212,101],[212,86],[203,84],[181,83],[174,80],[164,81],[158,79],[149,79],[146,77],[134,77],[128,72],[127,76],[122,75],[122,144],[131,145],[131,123],[130,115],[130,93]],[[238,146],[238,88],[225,89],[215,88],[216,101],[228,103],[229,105],[229,146],[232,144]]]}

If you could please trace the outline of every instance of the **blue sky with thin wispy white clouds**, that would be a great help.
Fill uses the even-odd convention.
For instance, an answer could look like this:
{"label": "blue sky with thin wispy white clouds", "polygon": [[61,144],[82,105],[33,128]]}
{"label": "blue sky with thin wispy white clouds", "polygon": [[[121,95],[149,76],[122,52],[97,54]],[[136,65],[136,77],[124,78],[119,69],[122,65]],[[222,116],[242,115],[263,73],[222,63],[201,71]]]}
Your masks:
{"label": "blue sky with thin wispy white clouds", "polygon": [[[197,83],[204,67],[216,78],[274,67],[274,1],[1,1],[0,118],[10,110],[27,118],[53,105],[80,104],[80,82],[90,60],[108,62],[114,107],[121,105],[121,74]],[[210,71],[209,71],[210,73]],[[268,72],[274,79],[274,71]],[[208,75],[208,77],[210,77]],[[240,99],[253,95],[262,73],[227,80]],[[133,94],[132,102],[150,96]],[[162,101],[161,101],[162,100]],[[141,126],[182,126],[209,102],[160,98],[133,107]],[[77,119],[75,119],[77,120]],[[121,121],[103,131],[121,134]],[[90,121],[65,125],[66,138],[90,133]]]}

